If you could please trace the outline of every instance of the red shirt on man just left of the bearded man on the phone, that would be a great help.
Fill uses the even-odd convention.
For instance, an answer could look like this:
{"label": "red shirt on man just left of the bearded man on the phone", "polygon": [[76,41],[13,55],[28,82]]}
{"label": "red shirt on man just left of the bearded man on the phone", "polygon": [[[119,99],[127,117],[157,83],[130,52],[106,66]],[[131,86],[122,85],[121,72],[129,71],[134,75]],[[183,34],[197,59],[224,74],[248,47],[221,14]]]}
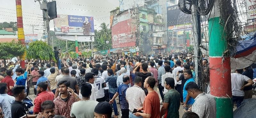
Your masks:
{"label": "red shirt on man just left of the bearded man on the phone", "polygon": [[54,100],[54,94],[53,92],[47,92],[47,91],[44,91],[44,92],[41,92],[37,95],[36,99],[35,99],[35,107],[34,107],[34,112],[42,112],[41,110],[41,104],[46,101],[46,100],[51,100],[53,101]]}

